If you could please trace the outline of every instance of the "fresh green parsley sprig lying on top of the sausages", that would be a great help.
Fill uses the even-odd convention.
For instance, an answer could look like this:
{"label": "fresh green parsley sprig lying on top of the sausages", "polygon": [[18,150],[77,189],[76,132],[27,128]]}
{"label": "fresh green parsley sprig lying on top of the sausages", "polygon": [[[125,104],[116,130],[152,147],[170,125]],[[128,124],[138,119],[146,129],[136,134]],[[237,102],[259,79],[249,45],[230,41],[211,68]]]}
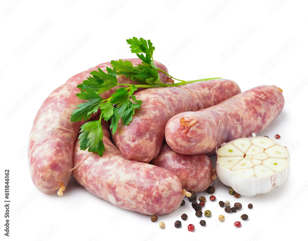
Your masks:
{"label": "fresh green parsley sprig lying on top of the sausages", "polygon": [[[132,53],[136,53],[138,58],[142,60],[142,64],[133,66],[127,60],[112,60],[112,68],[107,67],[107,73],[98,68],[98,71],[92,71],[90,73],[92,76],[89,76],[87,80],[77,85],[80,88],[80,93],[76,94],[76,96],[79,99],[87,101],[76,106],[77,108],[71,114],[71,121],[77,122],[82,119],[87,121],[92,114],[98,112],[100,109],[99,120],[89,121],[82,125],[80,130],[81,134],[79,135],[80,149],[88,149],[89,152],[96,152],[99,156],[102,156],[105,151],[101,119],[105,121],[111,120],[110,129],[112,134],[118,128],[118,123],[121,118],[124,125],[128,125],[132,121],[135,109],[140,109],[142,104],[142,101],[137,100],[133,94],[137,88],[179,86],[197,81],[218,79],[208,78],[192,81],[176,79],[154,64],[153,51],[155,47],[153,47],[150,40],[133,37],[126,41],[130,45]],[[161,83],[158,71],[163,72],[179,82],[172,84]],[[136,81],[138,84],[119,84],[116,77],[120,75]],[[119,85],[128,87],[116,88],[115,93],[108,99],[103,100],[99,96],[101,93]]]}

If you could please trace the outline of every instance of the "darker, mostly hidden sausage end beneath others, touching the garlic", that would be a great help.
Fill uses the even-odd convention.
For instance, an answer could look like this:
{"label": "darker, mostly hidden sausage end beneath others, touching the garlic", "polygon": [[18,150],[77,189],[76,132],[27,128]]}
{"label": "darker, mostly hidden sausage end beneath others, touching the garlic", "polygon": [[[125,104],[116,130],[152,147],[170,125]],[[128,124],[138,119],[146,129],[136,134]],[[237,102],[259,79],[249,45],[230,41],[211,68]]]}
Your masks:
{"label": "darker, mostly hidden sausage end beneath others, touching the garlic", "polygon": [[173,151],[166,142],[149,164],[163,167],[180,178],[182,188],[199,193],[206,190],[217,177],[212,161],[205,154],[183,155]]}

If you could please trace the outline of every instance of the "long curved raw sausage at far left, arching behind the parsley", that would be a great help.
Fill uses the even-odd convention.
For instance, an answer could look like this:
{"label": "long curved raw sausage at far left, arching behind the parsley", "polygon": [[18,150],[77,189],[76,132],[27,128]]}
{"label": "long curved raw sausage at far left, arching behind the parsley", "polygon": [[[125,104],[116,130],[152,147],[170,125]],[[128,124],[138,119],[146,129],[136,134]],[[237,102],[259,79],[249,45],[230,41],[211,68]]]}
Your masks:
{"label": "long curved raw sausage at far left, arching behind the parsley", "polygon": [[[127,59],[134,66],[141,64],[140,59]],[[167,71],[166,67],[156,62],[156,65]],[[76,86],[89,77],[90,72],[101,68],[106,71],[110,62],[99,64],[75,76],[56,88],[43,102],[37,112],[30,132],[28,159],[32,181],[36,188],[47,194],[62,191],[67,186],[73,167],[74,142],[84,121],[71,122],[70,116],[76,105],[83,103],[76,94],[80,89]],[[117,77],[119,83],[132,83],[124,76]],[[169,78],[160,73],[160,80],[166,83]],[[121,86],[119,86],[121,87]],[[115,88],[104,92],[101,97],[107,99]]]}

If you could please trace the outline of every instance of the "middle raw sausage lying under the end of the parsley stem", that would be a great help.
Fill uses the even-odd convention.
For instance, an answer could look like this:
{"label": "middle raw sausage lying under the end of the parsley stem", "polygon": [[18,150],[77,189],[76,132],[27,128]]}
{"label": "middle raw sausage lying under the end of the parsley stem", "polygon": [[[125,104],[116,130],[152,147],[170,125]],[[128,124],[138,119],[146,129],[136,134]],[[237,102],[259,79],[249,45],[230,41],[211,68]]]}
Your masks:
{"label": "middle raw sausage lying under the end of the parsley stem", "polygon": [[141,108],[128,126],[119,121],[113,141],[125,158],[149,162],[158,155],[172,116],[207,108],[240,92],[235,82],[224,79],[140,91],[136,98],[142,100]]}

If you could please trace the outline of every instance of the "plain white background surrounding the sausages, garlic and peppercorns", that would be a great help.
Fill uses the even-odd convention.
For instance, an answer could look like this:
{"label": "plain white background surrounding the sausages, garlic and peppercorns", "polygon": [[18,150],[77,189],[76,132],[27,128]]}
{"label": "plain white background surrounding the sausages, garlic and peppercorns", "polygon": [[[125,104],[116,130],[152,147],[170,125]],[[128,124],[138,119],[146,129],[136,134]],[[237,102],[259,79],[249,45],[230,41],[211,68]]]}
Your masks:
{"label": "plain white background surrounding the sausages, garlic and peppercorns", "polygon": [[[11,200],[10,237],[1,240],[288,240],[306,233],[307,7],[305,0],[1,1],[0,201],[5,169],[10,169]],[[203,208],[212,211],[212,217],[202,218],[205,227],[190,202],[152,223],[150,216],[89,194],[73,179],[62,197],[37,191],[26,152],[39,106],[69,77],[102,62],[134,57],[125,41],[133,36],[151,39],[154,59],[176,78],[223,77],[242,91],[262,84],[282,88],[285,107],[260,135],[281,135],[279,143],[291,152],[288,181],[268,194],[235,199],[229,187],[215,180],[217,200]],[[209,194],[201,195],[209,200]],[[220,200],[241,202],[243,208],[226,214]],[[5,209],[0,206],[3,237]],[[182,213],[188,214],[186,221]],[[233,223],[243,213],[249,219],[236,228]],[[223,223],[220,214],[226,214]],[[182,221],[179,229],[176,220]],[[164,229],[158,228],[160,221]],[[194,232],[188,232],[189,223]]]}

